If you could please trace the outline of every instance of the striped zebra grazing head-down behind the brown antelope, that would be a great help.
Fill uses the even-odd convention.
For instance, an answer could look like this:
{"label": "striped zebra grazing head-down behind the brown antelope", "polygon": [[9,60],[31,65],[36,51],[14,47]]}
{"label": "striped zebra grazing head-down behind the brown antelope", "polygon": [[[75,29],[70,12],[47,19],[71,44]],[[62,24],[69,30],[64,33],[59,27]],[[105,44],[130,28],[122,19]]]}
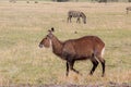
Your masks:
{"label": "striped zebra grazing head-down behind the brown antelope", "polygon": [[80,23],[80,17],[83,18],[83,23],[86,24],[86,15],[83,12],[80,11],[69,11],[68,12],[68,22],[70,21],[71,23],[71,18],[72,17],[78,17],[76,23]]}

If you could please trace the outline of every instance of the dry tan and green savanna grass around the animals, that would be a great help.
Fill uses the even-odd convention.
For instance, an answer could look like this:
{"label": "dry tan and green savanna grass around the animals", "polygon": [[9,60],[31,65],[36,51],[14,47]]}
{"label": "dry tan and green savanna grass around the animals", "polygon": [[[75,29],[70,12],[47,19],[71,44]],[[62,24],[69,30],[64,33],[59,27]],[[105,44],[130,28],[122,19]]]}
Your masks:
{"label": "dry tan and green savanna grass around the animals", "polygon": [[[90,85],[131,86],[131,3],[88,2],[0,2],[0,86],[13,85]],[[69,10],[83,11],[87,24],[67,23]],[[38,48],[39,41],[55,27],[62,41],[85,35],[100,37],[106,44],[106,76],[100,64],[93,76],[91,61],[75,63],[83,75],[70,72],[66,77],[66,62],[51,49]],[[78,32],[78,34],[74,34]],[[72,85],[72,86],[73,86]]]}

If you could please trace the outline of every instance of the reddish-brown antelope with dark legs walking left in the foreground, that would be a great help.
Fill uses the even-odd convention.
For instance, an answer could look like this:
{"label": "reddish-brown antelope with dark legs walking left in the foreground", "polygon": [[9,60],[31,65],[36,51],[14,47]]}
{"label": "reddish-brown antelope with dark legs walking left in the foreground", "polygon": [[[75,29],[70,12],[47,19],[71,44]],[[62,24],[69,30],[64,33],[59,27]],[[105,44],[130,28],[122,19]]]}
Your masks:
{"label": "reddish-brown antelope with dark legs walking left in the foreground", "polygon": [[103,75],[105,74],[105,60],[103,58],[105,44],[97,36],[84,36],[78,39],[69,39],[60,41],[53,34],[53,27],[48,30],[48,35],[39,42],[39,47],[52,48],[52,52],[59,58],[67,61],[67,76],[69,75],[69,69],[79,74],[73,65],[75,61],[90,59],[93,63],[93,67],[90,72],[93,75],[95,69],[98,65],[98,61],[102,63]]}

